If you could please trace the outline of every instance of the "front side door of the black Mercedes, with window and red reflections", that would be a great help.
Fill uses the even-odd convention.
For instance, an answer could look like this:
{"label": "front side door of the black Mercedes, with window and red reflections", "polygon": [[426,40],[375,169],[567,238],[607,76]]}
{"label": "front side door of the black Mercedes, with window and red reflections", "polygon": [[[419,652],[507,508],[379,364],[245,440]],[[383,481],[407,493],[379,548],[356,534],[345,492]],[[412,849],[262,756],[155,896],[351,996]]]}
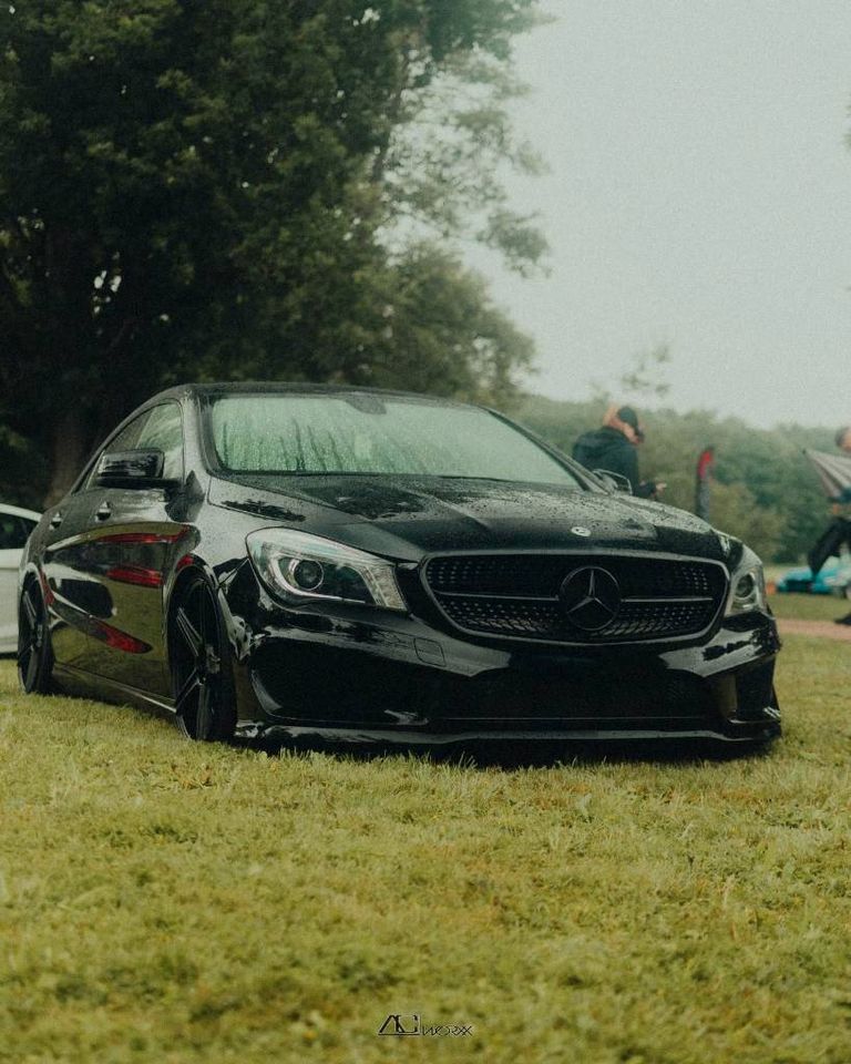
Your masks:
{"label": "front side door of the black Mercedes, with window and red reflections", "polygon": [[[184,480],[183,419],[180,403],[153,407],[132,446],[116,439],[105,450],[156,448],[164,456],[163,478]],[[88,579],[109,601],[93,638],[90,668],[114,683],[155,695],[171,685],[163,624],[163,584],[176,562],[186,528],[178,520],[180,491],[157,487],[104,488],[96,468],[89,490],[92,520],[86,534]],[[177,500],[177,501],[176,501]]]}

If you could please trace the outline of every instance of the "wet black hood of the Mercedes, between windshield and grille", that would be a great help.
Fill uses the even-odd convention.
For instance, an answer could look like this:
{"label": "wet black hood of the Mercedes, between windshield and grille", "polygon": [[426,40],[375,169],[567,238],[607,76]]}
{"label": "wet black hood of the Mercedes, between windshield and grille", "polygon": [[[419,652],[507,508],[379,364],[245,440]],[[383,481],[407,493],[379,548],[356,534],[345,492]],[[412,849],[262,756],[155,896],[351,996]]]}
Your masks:
{"label": "wet black hood of the Mercedes, between windshield and grille", "polygon": [[684,510],[554,484],[247,474],[214,479],[209,501],[400,560],[442,551],[583,546],[725,560],[718,535]]}

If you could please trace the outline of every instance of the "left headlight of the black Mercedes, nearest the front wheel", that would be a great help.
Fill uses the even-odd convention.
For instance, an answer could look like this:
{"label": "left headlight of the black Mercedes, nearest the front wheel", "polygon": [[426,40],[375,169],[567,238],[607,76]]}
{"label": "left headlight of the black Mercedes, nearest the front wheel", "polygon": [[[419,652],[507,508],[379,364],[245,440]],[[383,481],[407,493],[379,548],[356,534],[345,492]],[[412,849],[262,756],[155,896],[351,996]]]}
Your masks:
{"label": "left headlight of the black Mercedes, nearest the front wheel", "polygon": [[260,580],[285,602],[352,602],[408,612],[396,567],[382,557],[290,529],[260,529],[245,542]]}

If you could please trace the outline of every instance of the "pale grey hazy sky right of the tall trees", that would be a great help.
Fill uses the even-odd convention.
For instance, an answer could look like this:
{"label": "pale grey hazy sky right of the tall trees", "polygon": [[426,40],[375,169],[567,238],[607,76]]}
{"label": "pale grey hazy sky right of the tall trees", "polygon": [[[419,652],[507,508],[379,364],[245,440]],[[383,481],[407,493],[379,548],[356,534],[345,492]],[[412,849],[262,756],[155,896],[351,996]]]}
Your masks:
{"label": "pale grey hazy sky right of the tall trees", "polygon": [[551,276],[488,257],[554,398],[667,341],[668,402],[760,424],[851,422],[851,3],[544,0],[517,129],[550,174]]}

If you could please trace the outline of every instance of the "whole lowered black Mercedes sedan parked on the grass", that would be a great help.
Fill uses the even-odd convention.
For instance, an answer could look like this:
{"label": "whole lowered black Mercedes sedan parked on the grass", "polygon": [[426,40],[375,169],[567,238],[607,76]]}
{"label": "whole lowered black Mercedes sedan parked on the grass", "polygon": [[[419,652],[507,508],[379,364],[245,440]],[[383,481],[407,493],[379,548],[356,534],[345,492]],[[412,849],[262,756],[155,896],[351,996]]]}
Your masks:
{"label": "whole lowered black Mercedes sedan parked on the grass", "polygon": [[759,559],[501,415],[186,385],[33,532],[19,673],[194,739],[407,747],[780,732]]}

